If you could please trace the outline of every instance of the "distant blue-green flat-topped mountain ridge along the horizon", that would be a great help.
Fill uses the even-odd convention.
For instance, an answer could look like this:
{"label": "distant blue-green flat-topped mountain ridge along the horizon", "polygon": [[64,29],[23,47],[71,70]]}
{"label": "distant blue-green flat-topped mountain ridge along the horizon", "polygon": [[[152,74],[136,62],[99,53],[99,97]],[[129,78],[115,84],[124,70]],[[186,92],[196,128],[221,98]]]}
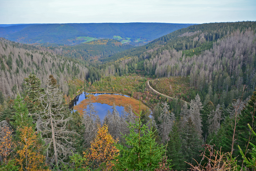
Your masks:
{"label": "distant blue-green flat-topped mountain ridge along the horizon", "polygon": [[[193,24],[173,23],[68,23],[68,24],[26,24],[0,27],[0,37],[19,43],[79,44],[77,37],[88,36],[122,38],[152,41],[163,35]],[[140,40],[141,41],[141,40]],[[134,44],[136,45],[136,44]]]}

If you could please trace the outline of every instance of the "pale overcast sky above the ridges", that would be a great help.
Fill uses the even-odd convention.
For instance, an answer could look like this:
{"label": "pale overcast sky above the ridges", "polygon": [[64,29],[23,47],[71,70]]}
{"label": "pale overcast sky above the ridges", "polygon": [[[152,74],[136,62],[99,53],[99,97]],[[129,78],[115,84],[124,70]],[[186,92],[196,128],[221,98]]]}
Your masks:
{"label": "pale overcast sky above the ridges", "polygon": [[256,0],[0,0],[0,24],[256,20]]}

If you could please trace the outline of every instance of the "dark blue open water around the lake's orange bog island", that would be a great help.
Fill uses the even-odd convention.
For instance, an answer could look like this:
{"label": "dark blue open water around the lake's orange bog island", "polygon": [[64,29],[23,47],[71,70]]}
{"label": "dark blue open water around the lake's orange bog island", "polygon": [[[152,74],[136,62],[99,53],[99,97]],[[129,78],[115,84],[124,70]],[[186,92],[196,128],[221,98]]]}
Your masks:
{"label": "dark blue open water around the lake's orange bog island", "polygon": [[[77,95],[70,103],[69,103],[69,109],[73,109],[73,107],[75,105],[78,105],[81,101],[83,101],[84,99],[87,99],[88,97],[86,97],[86,95],[92,94],[94,96],[99,96],[99,95],[103,95],[103,94],[112,94],[112,95],[120,95],[120,96],[125,96],[125,97],[129,97],[127,95],[123,95],[123,94],[114,94],[114,93],[86,93],[83,92],[79,95]],[[112,113],[113,109],[111,109],[111,107],[108,104],[101,104],[101,103],[92,103],[93,106],[95,107],[95,109],[98,111],[98,115],[100,117],[100,120],[103,120],[105,115],[107,114],[107,111],[109,110],[110,113]],[[88,110],[88,108],[84,109],[83,111]],[[116,106],[116,110],[118,111],[118,113],[121,115],[122,111],[124,111],[124,107],[123,106]],[[74,110],[76,111],[76,110]]]}

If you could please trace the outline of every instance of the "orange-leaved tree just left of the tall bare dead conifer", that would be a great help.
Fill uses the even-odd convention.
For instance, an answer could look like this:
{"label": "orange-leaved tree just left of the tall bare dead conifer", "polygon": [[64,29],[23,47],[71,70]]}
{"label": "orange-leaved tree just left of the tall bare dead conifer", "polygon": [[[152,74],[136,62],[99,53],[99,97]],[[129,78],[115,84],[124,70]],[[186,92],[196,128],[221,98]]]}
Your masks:
{"label": "orange-leaved tree just left of the tall bare dead conifer", "polygon": [[41,144],[32,127],[18,128],[20,140],[18,142],[16,163],[20,166],[19,171],[48,171],[45,157],[41,154]]}

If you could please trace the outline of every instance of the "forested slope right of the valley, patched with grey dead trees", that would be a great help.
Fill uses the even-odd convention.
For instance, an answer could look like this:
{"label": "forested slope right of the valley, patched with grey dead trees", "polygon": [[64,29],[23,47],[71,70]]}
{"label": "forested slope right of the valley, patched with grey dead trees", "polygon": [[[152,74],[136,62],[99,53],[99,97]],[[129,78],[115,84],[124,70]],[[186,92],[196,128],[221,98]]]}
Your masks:
{"label": "forested slope right of the valley, patched with grey dead trees", "polygon": [[254,90],[255,27],[250,21],[194,25],[101,60],[150,77],[188,76],[203,101],[227,106],[243,84],[249,94]]}

